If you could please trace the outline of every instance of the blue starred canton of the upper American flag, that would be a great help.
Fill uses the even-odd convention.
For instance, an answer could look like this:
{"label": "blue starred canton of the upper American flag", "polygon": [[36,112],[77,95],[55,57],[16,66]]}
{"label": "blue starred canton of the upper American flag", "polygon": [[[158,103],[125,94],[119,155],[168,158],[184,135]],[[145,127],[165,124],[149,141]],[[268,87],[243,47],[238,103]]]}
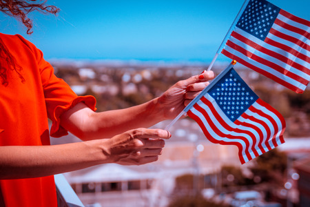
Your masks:
{"label": "blue starred canton of the upper American flag", "polygon": [[264,41],[279,12],[280,8],[268,1],[251,0],[236,26]]}

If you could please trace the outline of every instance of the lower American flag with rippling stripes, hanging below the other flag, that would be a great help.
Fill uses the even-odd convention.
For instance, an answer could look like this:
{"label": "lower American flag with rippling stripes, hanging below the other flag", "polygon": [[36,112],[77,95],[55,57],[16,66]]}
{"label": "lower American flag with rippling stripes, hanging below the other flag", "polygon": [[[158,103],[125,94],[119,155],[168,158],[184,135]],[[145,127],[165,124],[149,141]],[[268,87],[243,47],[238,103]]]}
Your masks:
{"label": "lower American flag with rippling stripes, hanging below the other flag", "polygon": [[259,99],[234,68],[222,73],[187,111],[207,139],[237,146],[242,164],[285,143],[282,115]]}

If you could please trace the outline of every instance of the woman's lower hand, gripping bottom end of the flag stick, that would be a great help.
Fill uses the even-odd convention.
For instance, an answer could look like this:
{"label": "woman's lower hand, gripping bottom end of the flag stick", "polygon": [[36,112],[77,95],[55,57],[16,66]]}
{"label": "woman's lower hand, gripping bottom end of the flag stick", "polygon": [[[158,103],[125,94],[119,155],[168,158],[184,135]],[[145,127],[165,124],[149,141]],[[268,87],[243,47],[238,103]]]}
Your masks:
{"label": "woman's lower hand, gripping bottom end of the flag stick", "polygon": [[141,165],[158,160],[164,139],[171,137],[170,132],[161,129],[137,128],[107,139],[105,153],[112,163],[122,165]]}

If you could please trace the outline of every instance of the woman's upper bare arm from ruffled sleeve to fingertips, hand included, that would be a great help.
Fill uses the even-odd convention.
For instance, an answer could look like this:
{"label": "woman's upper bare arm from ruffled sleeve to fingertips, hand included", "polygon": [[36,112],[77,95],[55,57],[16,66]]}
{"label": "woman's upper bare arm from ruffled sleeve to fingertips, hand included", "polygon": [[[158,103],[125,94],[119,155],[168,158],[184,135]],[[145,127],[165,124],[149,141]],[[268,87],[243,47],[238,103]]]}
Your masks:
{"label": "woman's upper bare arm from ruffled sleeve to fingertips, hand included", "polygon": [[214,78],[212,71],[178,81],[161,97],[121,110],[93,112],[79,103],[61,116],[61,126],[83,140],[109,138],[132,128],[174,119]]}

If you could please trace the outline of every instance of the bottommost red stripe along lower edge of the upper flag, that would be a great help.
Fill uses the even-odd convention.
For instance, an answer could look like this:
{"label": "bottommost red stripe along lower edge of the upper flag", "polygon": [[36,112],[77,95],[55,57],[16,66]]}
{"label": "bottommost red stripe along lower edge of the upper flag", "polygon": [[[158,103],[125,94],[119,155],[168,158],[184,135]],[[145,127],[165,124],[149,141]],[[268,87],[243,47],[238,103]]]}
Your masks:
{"label": "bottommost red stripe along lower edge of the upper flag", "polygon": [[222,51],[223,55],[226,55],[227,57],[229,57],[230,59],[235,59],[237,62],[241,63],[243,66],[246,66],[248,68],[251,68],[252,70],[255,70],[256,72],[259,72],[262,75],[265,75],[265,77],[268,77],[269,79],[273,79],[273,81],[276,81],[280,84],[282,84],[283,86],[297,92],[297,93],[302,93],[304,92],[303,90],[301,90],[300,88],[294,86],[291,83],[288,83],[287,81],[277,77],[276,75],[273,75],[270,72],[267,72],[265,70],[262,70],[254,65],[252,65],[251,63],[248,63],[247,61],[245,61],[244,59],[241,59],[239,57],[237,57],[236,55],[231,54],[230,52],[228,52],[227,50],[223,50]]}

